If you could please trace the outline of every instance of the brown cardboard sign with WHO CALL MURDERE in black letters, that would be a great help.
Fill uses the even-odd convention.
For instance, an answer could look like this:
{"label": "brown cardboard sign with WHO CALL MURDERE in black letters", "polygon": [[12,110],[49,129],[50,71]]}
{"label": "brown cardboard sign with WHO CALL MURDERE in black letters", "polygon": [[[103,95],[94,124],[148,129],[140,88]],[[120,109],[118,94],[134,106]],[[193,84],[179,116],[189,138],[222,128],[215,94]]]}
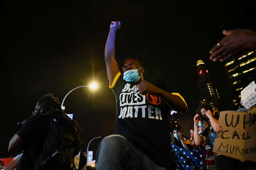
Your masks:
{"label": "brown cardboard sign with WHO CALL MURDERE in black letters", "polygon": [[256,108],[247,112],[220,112],[223,131],[215,138],[213,152],[240,161],[256,161]]}

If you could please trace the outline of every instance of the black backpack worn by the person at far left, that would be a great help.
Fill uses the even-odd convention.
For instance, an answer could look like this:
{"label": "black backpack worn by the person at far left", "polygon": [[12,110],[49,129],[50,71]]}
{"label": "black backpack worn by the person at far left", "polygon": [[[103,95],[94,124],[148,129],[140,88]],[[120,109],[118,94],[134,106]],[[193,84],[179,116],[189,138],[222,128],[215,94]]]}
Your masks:
{"label": "black backpack worn by the person at far left", "polygon": [[37,158],[34,158],[30,151],[34,164],[33,169],[76,169],[74,156],[81,149],[78,125],[67,115],[48,112],[44,116],[51,123],[44,140],[42,153]]}

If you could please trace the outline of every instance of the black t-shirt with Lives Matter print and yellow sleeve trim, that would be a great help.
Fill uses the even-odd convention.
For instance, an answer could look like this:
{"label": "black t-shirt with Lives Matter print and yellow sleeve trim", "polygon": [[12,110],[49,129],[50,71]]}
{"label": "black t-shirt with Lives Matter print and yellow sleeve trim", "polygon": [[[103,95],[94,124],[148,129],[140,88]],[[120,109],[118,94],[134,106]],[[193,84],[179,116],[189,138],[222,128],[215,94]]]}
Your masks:
{"label": "black t-shirt with Lives Matter print and yellow sleeve trim", "polygon": [[[154,77],[147,81],[164,91],[179,95],[162,78]],[[175,169],[167,122],[170,107],[158,96],[140,94],[136,88],[139,83],[124,81],[119,72],[110,86],[117,102],[116,134],[124,136],[159,166]]]}

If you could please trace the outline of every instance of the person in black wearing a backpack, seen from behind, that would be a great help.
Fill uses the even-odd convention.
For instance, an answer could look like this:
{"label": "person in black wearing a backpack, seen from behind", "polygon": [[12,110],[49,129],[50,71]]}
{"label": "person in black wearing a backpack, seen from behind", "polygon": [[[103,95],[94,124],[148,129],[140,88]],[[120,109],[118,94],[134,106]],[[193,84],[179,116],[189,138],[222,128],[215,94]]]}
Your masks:
{"label": "person in black wearing a backpack, seen from behind", "polygon": [[44,95],[32,114],[9,143],[9,153],[24,151],[17,170],[76,169],[80,128],[62,111],[58,98]]}

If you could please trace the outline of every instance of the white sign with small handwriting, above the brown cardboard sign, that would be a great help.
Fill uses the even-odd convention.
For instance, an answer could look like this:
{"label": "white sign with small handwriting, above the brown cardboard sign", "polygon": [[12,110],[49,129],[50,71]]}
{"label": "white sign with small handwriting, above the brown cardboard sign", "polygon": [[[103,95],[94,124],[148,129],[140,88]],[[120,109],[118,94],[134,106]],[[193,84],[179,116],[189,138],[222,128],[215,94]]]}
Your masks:
{"label": "white sign with small handwriting, above the brown cardboard sign", "polygon": [[252,81],[246,88],[241,91],[242,105],[249,109],[256,104],[256,84]]}

